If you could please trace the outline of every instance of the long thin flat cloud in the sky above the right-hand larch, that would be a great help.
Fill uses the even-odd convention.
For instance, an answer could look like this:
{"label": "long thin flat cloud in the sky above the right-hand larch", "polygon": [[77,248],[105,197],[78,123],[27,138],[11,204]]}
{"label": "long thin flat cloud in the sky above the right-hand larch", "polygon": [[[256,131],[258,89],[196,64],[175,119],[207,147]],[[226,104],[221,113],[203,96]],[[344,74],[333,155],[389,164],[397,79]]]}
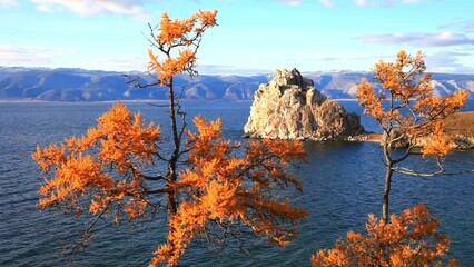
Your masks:
{"label": "long thin flat cloud in the sky above the right-hand larch", "polygon": [[357,37],[366,42],[374,43],[402,43],[414,47],[448,47],[448,46],[474,46],[474,37],[464,33],[424,33],[424,32],[411,32],[411,33],[379,33],[379,34],[366,34]]}

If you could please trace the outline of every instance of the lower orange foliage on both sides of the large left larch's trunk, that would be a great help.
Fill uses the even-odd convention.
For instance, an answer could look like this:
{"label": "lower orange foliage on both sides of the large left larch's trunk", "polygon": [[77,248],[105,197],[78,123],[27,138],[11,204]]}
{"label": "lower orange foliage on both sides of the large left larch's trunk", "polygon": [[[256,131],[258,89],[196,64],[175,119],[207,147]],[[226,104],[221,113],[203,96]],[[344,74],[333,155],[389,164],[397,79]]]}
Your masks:
{"label": "lower orange foliage on both sides of the large left larch's trunk", "polygon": [[[176,266],[187,245],[209,224],[246,225],[270,241],[286,245],[306,210],[279,199],[274,190],[288,185],[300,189],[286,168],[304,159],[303,144],[250,141],[246,154],[237,157],[234,150],[240,144],[221,137],[220,120],[206,122],[196,117],[194,122],[198,132],[188,132],[188,168],[180,171],[177,182],[167,186],[179,199],[179,207],[170,216],[168,243],[154,253],[150,266],[162,261]],[[116,222],[122,212],[129,219],[142,216],[151,194],[141,168],[152,161],[159,135],[158,127],[145,127],[139,115],[131,115],[119,102],[83,137],[38,147],[33,159],[45,176],[53,174],[39,190],[43,197],[38,206],[72,210],[79,216],[87,205],[89,212],[112,214]]]}

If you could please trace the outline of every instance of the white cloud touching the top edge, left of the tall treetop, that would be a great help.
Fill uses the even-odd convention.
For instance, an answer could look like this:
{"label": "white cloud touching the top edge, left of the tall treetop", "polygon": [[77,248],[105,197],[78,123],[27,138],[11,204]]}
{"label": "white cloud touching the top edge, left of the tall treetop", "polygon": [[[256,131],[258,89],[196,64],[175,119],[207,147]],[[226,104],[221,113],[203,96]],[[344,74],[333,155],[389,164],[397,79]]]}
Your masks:
{"label": "white cloud touching the top edge, left of the tall treetop", "polygon": [[149,20],[144,10],[147,0],[30,0],[42,12],[73,12],[80,16],[116,13]]}

